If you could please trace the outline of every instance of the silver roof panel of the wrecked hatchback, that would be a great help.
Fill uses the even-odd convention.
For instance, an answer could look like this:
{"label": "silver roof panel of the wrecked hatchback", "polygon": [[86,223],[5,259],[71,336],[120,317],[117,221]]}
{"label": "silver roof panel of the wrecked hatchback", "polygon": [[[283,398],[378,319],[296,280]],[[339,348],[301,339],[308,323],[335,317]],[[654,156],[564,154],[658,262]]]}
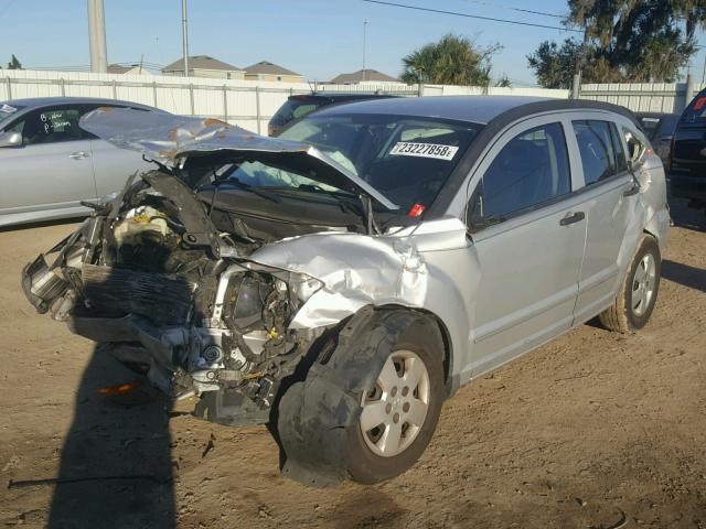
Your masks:
{"label": "silver roof panel of the wrecked hatchback", "polygon": [[581,99],[549,99],[527,96],[432,96],[371,99],[351,102],[345,106],[323,108],[317,116],[335,114],[386,114],[398,116],[418,116],[429,118],[454,119],[488,125],[494,118],[515,110],[523,114],[536,114],[554,110],[601,109],[618,112],[634,120],[634,116],[624,107],[609,102]]}

